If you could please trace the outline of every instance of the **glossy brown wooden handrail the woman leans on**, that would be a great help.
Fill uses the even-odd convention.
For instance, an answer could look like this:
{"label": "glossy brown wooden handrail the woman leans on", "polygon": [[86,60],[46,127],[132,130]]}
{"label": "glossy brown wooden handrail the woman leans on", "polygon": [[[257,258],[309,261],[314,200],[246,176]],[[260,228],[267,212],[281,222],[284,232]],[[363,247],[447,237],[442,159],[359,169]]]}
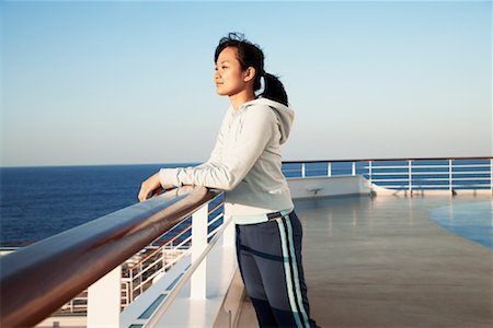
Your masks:
{"label": "glossy brown wooden handrail the woman leans on", "polygon": [[35,326],[220,191],[173,189],[0,258],[0,326]]}

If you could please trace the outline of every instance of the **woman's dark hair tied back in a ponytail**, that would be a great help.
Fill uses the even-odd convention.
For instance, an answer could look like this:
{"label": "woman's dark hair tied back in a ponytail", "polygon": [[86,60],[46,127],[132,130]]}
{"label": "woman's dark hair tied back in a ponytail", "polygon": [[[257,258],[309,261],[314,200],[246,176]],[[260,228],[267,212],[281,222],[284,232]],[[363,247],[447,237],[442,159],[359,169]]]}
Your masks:
{"label": "woman's dark hair tied back in a ponytail", "polygon": [[228,36],[219,40],[219,45],[216,47],[216,52],[214,54],[214,62],[217,62],[219,54],[227,47],[234,47],[237,49],[237,58],[243,70],[249,67],[255,69],[254,91],[261,89],[261,78],[264,78],[264,92],[260,96],[286,106],[288,105],[287,93],[283,83],[277,77],[264,71],[264,52],[257,45],[244,38],[244,34],[229,33]]}

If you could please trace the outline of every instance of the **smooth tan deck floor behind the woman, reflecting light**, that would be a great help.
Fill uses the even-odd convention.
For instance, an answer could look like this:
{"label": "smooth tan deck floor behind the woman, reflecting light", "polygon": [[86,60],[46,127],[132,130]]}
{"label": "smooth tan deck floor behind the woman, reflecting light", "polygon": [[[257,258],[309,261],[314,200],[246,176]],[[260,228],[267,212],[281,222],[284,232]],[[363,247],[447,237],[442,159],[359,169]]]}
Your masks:
{"label": "smooth tan deck floor behind the woman, reflecting light", "polygon": [[[492,197],[298,201],[308,296],[317,324],[493,327],[493,251],[429,219],[431,210],[480,201],[492,201]],[[238,327],[257,327],[248,300]]]}

